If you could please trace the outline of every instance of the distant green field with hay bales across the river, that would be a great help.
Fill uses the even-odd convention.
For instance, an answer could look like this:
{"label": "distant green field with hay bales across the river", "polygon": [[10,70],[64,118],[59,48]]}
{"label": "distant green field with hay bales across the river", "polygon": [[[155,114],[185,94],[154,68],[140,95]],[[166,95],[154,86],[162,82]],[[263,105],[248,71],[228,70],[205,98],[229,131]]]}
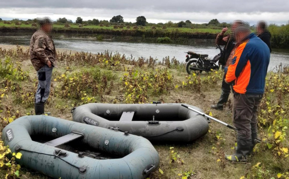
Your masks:
{"label": "distant green field with hay bales across the river", "polygon": [[[4,24],[3,22],[0,22],[0,27],[31,27],[31,24],[29,25],[15,25],[14,23],[12,24]],[[53,25],[53,27],[56,28],[64,28],[64,25]],[[83,27],[78,27],[78,25],[71,25],[71,28],[99,28],[99,29],[110,29],[110,30],[126,30],[127,27],[124,26],[123,29],[118,28],[118,29],[114,29],[113,25],[110,25],[109,27],[101,27],[99,25],[88,25],[88,26],[83,26]],[[67,28],[69,29],[69,28]],[[151,26],[144,26],[144,29],[139,29],[139,30],[147,30],[147,29],[151,29]],[[156,27],[156,29],[162,29],[161,27]],[[163,29],[164,31],[172,31],[172,30],[179,30],[181,32],[203,32],[203,33],[219,33],[221,32],[221,29],[204,29],[204,28],[176,28],[176,27],[167,27],[166,29]],[[133,29],[133,26],[131,26],[130,30],[135,30]]]}

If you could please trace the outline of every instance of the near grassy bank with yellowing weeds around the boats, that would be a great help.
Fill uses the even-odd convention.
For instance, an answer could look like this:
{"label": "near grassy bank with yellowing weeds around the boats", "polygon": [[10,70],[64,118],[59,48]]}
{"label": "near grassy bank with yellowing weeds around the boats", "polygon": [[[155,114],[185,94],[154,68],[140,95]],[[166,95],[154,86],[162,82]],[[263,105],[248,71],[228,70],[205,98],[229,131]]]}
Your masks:
{"label": "near grassy bank with yellowing weeds around the boats", "polygon": [[[37,79],[27,49],[0,49],[0,60],[2,130],[17,117],[33,114]],[[159,100],[195,105],[232,124],[231,96],[224,111],[210,109],[220,95],[221,71],[187,76],[184,64],[176,59],[132,58],[110,52],[96,55],[61,52],[58,60],[46,107],[55,117],[72,120],[71,108],[88,102],[146,103]],[[234,152],[236,133],[212,121],[209,133],[193,143],[154,144],[160,156],[160,168],[149,179],[289,177],[286,174],[289,172],[288,75],[288,69],[268,74],[266,94],[259,112],[259,133],[265,142],[257,145],[247,164],[232,164],[224,160],[224,153]],[[2,154],[4,149],[0,144]],[[175,162],[172,162],[175,158]],[[3,165],[0,178],[16,170]],[[25,168],[19,170],[19,178],[48,179]]]}

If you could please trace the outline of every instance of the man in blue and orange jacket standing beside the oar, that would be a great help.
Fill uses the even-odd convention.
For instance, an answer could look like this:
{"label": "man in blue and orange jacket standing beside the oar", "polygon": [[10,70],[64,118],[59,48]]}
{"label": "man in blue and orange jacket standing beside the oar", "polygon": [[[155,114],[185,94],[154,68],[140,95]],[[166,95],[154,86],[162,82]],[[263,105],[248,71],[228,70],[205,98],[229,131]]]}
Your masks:
{"label": "man in blue and orange jacket standing beside the oar", "polygon": [[258,131],[258,107],[265,91],[265,80],[270,62],[270,49],[251,33],[249,26],[240,25],[235,30],[239,47],[228,67],[226,83],[235,82],[233,98],[233,123],[238,130],[237,150],[225,159],[246,162],[253,151]]}

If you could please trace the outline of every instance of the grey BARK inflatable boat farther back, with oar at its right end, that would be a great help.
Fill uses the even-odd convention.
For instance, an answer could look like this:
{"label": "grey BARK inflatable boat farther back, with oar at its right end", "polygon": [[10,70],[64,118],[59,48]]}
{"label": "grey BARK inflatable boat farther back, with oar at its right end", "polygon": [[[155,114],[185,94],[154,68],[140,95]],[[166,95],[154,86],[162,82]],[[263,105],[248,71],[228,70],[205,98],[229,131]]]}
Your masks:
{"label": "grey BARK inflatable boat farther back, with oar at its right end", "polygon": [[191,142],[209,130],[208,120],[204,116],[180,103],[89,103],[73,108],[71,112],[73,121],[116,128],[157,142]]}

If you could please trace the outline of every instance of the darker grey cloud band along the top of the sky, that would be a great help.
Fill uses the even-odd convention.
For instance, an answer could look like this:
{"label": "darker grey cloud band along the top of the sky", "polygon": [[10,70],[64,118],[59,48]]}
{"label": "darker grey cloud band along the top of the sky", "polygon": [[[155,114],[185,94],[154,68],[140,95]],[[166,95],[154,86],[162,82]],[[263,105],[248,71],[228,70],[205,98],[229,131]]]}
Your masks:
{"label": "darker grey cloud band along the top of the sky", "polygon": [[0,7],[93,8],[155,12],[288,12],[289,0],[1,0]]}

